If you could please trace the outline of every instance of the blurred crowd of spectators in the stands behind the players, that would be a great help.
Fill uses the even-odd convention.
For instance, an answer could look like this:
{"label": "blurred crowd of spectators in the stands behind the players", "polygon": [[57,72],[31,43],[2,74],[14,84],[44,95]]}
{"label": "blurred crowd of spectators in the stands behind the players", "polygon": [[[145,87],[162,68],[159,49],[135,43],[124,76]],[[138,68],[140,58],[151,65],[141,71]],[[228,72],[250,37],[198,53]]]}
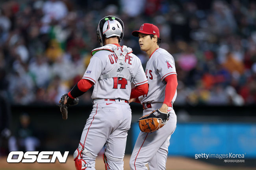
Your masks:
{"label": "blurred crowd of spectators in the stands behind the players", "polygon": [[[111,3],[111,4],[110,4]],[[175,104],[256,104],[256,2],[250,0],[22,0],[1,2],[0,91],[12,104],[55,104],[81,79],[99,47],[98,21],[124,22],[121,44],[145,67],[132,31],[160,28],[176,60]],[[91,102],[89,90],[82,96]]]}

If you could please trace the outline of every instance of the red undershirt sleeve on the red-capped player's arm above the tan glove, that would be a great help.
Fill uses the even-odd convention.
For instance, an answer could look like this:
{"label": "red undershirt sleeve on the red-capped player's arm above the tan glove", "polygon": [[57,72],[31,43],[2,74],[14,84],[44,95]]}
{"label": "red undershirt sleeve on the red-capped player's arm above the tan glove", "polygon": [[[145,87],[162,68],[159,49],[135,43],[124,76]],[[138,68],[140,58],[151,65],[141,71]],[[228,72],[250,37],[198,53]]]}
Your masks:
{"label": "red undershirt sleeve on the red-capped player's arm above the tan glove", "polygon": [[167,104],[167,106],[171,106],[171,102],[173,100],[173,97],[176,93],[176,88],[178,86],[178,80],[177,75],[172,74],[168,75],[164,79],[166,81],[166,87],[165,87],[165,100],[163,101],[164,104]]}

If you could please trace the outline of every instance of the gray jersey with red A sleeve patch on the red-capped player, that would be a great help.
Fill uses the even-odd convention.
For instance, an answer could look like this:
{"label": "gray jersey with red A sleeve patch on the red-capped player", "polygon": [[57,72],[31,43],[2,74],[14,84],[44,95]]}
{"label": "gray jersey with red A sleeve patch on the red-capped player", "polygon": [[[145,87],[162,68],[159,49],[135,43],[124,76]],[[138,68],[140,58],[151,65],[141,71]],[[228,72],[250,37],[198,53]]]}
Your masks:
{"label": "gray jersey with red A sleeve patch on the red-capped player", "polygon": [[[146,66],[148,94],[139,97],[141,103],[163,103],[165,99],[165,77],[177,74],[173,56],[165,49],[158,48],[150,56]],[[172,99],[175,101],[177,91]]]}

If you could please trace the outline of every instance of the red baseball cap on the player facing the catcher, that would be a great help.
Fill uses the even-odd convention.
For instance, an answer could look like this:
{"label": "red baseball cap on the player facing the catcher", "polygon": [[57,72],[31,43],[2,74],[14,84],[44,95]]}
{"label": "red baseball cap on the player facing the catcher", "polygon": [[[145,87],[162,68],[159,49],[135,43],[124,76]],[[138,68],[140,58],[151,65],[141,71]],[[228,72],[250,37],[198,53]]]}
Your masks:
{"label": "red baseball cap on the player facing the catcher", "polygon": [[148,23],[142,24],[139,31],[133,31],[132,35],[135,36],[135,37],[138,37],[139,33],[153,34],[153,35],[157,35],[158,38],[160,37],[158,27],[153,25],[153,24],[148,24]]}

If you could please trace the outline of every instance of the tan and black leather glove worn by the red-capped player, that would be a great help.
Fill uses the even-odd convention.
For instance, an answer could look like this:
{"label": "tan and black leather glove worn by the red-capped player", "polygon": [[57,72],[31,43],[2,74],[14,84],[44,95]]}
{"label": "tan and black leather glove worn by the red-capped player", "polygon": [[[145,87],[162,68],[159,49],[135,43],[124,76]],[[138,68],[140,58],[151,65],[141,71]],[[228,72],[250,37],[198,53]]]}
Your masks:
{"label": "tan and black leather glove worn by the red-capped player", "polygon": [[163,127],[169,120],[170,112],[163,113],[158,109],[139,118],[139,129],[141,132],[155,132]]}

